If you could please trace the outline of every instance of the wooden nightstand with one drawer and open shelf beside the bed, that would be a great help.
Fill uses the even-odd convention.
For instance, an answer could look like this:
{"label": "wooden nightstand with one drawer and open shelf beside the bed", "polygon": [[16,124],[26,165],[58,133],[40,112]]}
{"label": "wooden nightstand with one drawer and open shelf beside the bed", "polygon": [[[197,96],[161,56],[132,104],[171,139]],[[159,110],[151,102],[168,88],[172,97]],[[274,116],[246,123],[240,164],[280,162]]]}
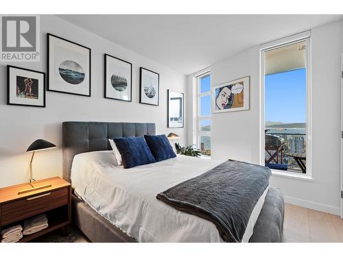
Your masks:
{"label": "wooden nightstand with one drawer and open shelf beside the bed", "polygon": [[19,195],[19,191],[31,188],[28,183],[0,188],[0,232],[41,213],[47,215],[49,226],[34,234],[23,236],[19,242],[27,242],[71,223],[71,184],[62,178],[48,178],[34,182],[34,186],[51,184],[49,188]]}

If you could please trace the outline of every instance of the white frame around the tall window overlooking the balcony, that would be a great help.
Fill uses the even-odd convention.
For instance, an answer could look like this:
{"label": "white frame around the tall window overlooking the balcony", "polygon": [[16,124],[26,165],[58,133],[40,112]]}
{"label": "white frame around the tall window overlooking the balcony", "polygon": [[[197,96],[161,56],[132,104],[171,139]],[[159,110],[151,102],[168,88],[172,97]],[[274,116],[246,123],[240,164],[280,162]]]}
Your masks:
{"label": "white frame around the tall window overlooking the balcony", "polygon": [[272,49],[292,45],[296,42],[306,42],[306,101],[307,101],[307,142],[306,142],[306,174],[298,174],[290,171],[279,171],[272,169],[273,175],[285,176],[288,178],[312,180],[311,169],[311,31],[302,32],[286,38],[281,38],[261,45],[260,49],[260,164],[264,166],[265,158],[265,66],[264,53]]}

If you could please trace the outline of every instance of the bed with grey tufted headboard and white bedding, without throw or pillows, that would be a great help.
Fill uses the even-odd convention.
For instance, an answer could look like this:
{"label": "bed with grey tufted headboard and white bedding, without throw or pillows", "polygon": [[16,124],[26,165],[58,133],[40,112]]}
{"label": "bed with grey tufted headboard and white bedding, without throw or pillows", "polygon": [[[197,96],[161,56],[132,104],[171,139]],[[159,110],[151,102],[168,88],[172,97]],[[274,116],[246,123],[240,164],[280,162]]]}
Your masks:
{"label": "bed with grey tufted headboard and white bedding, without throw or pillows", "polygon": [[[157,193],[220,162],[178,156],[123,170],[106,162],[110,158],[104,156],[113,154],[108,138],[154,135],[153,123],[72,121],[64,122],[62,127],[63,178],[69,182],[72,179],[75,188],[73,222],[91,241],[222,241],[210,221],[182,213],[156,199]],[[104,161],[94,161],[100,159]],[[196,165],[198,169],[189,168]],[[169,177],[161,173],[166,169]],[[282,194],[276,188],[267,188],[252,211],[242,241],[279,242],[282,230]]]}

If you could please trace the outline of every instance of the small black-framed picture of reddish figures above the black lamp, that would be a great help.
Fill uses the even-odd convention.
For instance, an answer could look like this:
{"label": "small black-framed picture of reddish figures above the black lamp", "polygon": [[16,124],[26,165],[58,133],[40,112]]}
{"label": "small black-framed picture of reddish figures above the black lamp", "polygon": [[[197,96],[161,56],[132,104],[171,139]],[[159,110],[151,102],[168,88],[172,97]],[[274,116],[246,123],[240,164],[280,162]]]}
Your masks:
{"label": "small black-framed picture of reddish figures above the black lamp", "polygon": [[45,73],[8,65],[7,104],[45,107]]}

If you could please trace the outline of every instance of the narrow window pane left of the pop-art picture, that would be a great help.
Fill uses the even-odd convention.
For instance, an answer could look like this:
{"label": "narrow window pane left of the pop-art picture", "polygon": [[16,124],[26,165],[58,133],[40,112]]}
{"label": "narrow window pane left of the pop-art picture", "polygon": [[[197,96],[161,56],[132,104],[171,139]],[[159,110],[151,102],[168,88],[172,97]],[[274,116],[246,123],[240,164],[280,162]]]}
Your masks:
{"label": "narrow window pane left of the pop-art picture", "polygon": [[202,154],[211,156],[211,75],[197,77],[198,92],[198,148]]}

